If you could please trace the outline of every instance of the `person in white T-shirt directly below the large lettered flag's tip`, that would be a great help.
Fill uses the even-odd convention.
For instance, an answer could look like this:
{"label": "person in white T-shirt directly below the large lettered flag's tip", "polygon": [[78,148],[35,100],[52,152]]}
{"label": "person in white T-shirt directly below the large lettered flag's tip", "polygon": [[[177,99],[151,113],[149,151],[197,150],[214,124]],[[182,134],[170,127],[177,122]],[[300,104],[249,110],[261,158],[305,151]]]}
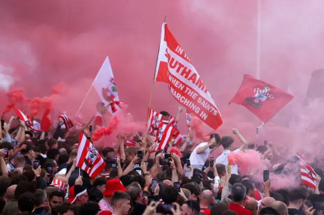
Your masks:
{"label": "person in white T-shirt directly below the large lettered flag's tip", "polygon": [[[193,149],[189,158],[193,169],[203,169],[210,153],[220,146],[220,139],[219,134],[211,134],[208,142],[200,143]],[[188,176],[189,174],[190,172],[186,171],[185,175]]]}

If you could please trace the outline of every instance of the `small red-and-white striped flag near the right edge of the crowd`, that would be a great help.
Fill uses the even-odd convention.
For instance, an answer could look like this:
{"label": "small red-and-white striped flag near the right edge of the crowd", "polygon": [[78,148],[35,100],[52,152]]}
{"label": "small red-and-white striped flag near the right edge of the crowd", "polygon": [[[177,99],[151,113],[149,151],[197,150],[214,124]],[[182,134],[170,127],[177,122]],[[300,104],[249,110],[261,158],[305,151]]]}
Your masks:
{"label": "small red-and-white striped flag near the right edge of the crowd", "polygon": [[316,173],[315,171],[305,162],[302,156],[297,153],[299,158],[300,173],[301,173],[301,183],[315,189],[316,188]]}

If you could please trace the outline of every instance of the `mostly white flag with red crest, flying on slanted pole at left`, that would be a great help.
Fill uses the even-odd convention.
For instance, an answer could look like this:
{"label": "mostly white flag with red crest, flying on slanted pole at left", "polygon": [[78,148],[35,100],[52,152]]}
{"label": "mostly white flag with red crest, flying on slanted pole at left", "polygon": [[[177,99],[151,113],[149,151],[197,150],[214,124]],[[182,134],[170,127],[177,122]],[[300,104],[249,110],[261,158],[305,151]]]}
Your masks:
{"label": "mostly white flag with red crest, flying on slanted pole at left", "polygon": [[[104,104],[109,104],[111,101],[112,102],[119,101],[117,87],[115,84],[115,79],[113,77],[113,73],[112,73],[112,69],[108,57],[106,57],[95,80],[93,81],[93,86],[96,89],[100,97],[100,100]],[[115,110],[112,110],[111,106],[109,106],[108,108],[108,111],[111,114],[113,114],[114,112],[120,109],[119,105],[113,105]]]}

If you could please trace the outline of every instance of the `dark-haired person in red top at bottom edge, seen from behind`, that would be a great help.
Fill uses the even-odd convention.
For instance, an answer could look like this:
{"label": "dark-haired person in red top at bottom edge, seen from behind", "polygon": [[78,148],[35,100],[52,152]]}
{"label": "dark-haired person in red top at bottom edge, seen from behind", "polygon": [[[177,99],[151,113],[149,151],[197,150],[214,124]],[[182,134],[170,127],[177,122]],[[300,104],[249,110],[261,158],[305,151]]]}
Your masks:
{"label": "dark-haired person in red top at bottom edge, seen from behind", "polygon": [[247,189],[241,183],[233,184],[231,188],[232,203],[228,205],[229,210],[233,210],[237,215],[253,215],[252,212],[243,207],[246,200]]}

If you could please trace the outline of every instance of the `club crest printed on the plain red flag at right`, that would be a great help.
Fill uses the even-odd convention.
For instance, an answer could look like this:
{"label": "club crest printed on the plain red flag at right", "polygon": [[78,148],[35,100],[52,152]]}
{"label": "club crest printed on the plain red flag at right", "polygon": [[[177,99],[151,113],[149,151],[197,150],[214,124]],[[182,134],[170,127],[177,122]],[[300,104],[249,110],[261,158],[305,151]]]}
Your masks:
{"label": "club crest printed on the plain red flag at right", "polygon": [[254,108],[261,108],[263,103],[267,99],[273,99],[273,95],[270,93],[270,87],[265,86],[263,89],[254,88],[254,96],[247,97],[245,100],[251,104]]}

